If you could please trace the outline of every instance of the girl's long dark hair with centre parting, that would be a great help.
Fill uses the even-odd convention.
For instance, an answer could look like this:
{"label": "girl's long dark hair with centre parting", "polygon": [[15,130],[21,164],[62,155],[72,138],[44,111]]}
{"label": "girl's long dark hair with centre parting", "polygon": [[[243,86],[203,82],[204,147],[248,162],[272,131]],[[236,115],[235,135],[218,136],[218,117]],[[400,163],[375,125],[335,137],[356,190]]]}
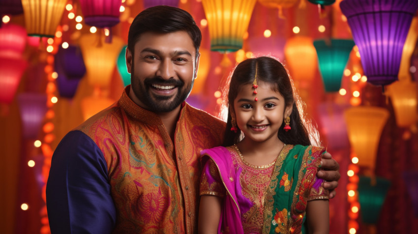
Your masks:
{"label": "girl's long dark hair with centre parting", "polygon": [[[286,132],[282,126],[279,128],[277,134],[280,141],[290,145],[319,145],[318,144],[318,131],[312,127],[309,121],[305,121],[303,117],[302,102],[299,95],[293,85],[293,81],[290,79],[286,68],[277,60],[270,57],[259,57],[246,59],[240,62],[230,76],[230,85],[223,93],[224,110],[228,110],[227,125],[224,138],[224,146],[231,146],[240,141],[241,131],[238,129],[237,133],[230,130],[231,128],[231,114],[229,111],[234,109],[234,100],[238,95],[239,89],[243,85],[251,85],[254,81],[255,72],[257,67],[257,82],[265,82],[271,85],[271,88],[275,91],[279,91],[285,99],[285,105],[293,106],[292,113],[290,115],[290,127],[292,128]],[[228,82],[228,81],[227,81]],[[229,91],[228,91],[229,89]],[[231,104],[228,108],[228,103]],[[225,105],[226,104],[226,105]],[[222,115],[222,113],[221,113]],[[237,126],[238,127],[238,126]],[[312,140],[312,142],[311,142]]]}

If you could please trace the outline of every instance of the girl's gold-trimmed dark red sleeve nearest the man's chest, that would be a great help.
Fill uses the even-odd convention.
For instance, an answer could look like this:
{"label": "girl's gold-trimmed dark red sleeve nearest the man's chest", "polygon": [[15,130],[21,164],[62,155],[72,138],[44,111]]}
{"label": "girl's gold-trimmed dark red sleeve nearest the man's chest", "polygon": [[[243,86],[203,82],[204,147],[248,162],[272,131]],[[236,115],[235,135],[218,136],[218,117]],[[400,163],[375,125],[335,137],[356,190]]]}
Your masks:
{"label": "girl's gold-trimmed dark red sleeve nearest the man's chest", "polygon": [[200,195],[212,195],[223,198],[225,187],[219,176],[218,168],[212,159],[207,160],[200,178]]}

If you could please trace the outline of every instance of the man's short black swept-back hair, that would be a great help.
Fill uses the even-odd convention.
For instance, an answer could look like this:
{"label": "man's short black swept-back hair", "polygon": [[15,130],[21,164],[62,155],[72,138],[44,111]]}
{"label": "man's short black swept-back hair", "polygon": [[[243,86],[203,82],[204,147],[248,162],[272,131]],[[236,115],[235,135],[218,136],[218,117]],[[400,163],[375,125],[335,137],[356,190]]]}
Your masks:
{"label": "man's short black swept-back hair", "polygon": [[149,7],[139,13],[133,20],[128,32],[128,49],[133,54],[135,43],[145,32],[169,33],[186,31],[199,55],[202,33],[193,17],[177,7],[158,5]]}

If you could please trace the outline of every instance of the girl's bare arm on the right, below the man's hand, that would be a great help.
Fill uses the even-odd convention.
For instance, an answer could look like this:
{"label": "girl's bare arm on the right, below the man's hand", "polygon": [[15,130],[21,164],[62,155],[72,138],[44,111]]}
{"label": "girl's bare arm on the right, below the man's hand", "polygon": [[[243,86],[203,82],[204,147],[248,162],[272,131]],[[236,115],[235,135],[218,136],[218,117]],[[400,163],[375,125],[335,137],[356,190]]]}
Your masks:
{"label": "girl's bare arm on the right, below the man's hand", "polygon": [[306,206],[306,222],[309,234],[329,233],[328,200],[312,200]]}

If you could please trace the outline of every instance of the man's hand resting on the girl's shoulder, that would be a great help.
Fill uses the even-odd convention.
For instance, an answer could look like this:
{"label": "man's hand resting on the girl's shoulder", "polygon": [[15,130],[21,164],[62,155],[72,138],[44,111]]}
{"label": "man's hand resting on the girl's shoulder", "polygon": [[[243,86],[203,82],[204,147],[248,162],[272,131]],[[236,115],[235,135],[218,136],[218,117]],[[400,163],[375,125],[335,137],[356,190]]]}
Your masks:
{"label": "man's hand resting on the girl's shoulder", "polygon": [[329,198],[335,197],[335,188],[338,186],[338,180],[341,175],[338,172],[340,165],[337,161],[332,159],[331,154],[326,152],[322,155],[321,159],[321,169],[318,171],[317,176],[326,180],[324,182],[324,188],[329,189]]}

